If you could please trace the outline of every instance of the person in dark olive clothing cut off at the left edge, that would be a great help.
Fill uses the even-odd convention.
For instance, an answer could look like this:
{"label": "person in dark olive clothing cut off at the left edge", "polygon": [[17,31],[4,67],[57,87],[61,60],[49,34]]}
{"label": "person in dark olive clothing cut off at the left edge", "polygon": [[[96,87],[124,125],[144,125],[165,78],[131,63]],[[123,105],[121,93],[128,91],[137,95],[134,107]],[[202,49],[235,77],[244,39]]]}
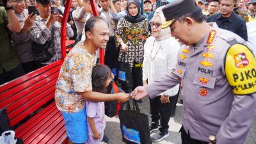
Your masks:
{"label": "person in dark olive clothing cut off at the left edge", "polygon": [[7,1],[0,0],[0,84],[24,74],[19,58],[10,41],[9,31],[20,31],[19,21],[12,9],[13,7]]}

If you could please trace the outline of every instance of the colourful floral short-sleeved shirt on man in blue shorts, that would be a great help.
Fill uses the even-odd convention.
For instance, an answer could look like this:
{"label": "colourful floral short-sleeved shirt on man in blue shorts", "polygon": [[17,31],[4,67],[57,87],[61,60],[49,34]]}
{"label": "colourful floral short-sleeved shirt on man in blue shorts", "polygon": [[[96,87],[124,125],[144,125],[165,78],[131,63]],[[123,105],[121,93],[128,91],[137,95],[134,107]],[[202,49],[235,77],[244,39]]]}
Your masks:
{"label": "colourful floral short-sleeved shirt on man in blue shorts", "polygon": [[86,51],[83,41],[77,43],[67,54],[56,84],[55,100],[60,111],[74,113],[84,107],[79,92],[92,90],[92,68],[97,57]]}

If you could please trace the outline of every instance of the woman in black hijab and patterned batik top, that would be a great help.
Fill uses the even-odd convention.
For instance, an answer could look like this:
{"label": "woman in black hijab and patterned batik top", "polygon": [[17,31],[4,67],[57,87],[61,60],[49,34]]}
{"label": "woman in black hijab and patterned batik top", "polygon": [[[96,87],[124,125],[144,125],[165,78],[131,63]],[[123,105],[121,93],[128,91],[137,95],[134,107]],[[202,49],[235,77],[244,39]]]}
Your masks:
{"label": "woman in black hijab and patterned batik top", "polygon": [[127,15],[120,19],[116,28],[116,41],[121,45],[118,61],[129,63],[132,72],[132,88],[122,85],[129,93],[142,86],[143,45],[148,37],[148,20],[140,13],[137,0],[127,1]]}

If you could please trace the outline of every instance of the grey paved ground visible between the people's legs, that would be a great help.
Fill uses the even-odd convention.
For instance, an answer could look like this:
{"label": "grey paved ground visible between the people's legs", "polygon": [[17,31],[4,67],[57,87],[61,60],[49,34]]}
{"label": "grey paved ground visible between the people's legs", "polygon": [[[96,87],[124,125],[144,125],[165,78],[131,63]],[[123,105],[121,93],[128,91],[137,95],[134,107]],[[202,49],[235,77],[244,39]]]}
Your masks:
{"label": "grey paved ground visible between the people's legs", "polygon": [[[148,98],[143,99],[143,103],[139,104],[140,111],[146,113],[149,116],[149,100]],[[183,106],[182,104],[177,104],[176,113],[173,118],[170,119],[169,125],[169,136],[163,141],[155,144],[181,144],[179,129],[181,127],[181,122],[183,118]],[[106,118],[106,135],[110,138],[111,144],[119,144],[122,142],[122,134],[120,131],[120,123],[118,117]],[[250,129],[250,132],[246,138],[244,144],[256,144],[256,117]]]}

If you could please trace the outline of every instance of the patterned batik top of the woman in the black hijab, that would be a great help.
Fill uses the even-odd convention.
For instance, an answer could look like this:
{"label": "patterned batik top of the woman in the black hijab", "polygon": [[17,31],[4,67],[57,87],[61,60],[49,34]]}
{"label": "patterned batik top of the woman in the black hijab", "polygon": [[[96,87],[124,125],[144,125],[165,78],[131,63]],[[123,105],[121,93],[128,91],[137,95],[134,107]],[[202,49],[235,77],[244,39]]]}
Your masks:
{"label": "patterned batik top of the woman in the black hijab", "polygon": [[124,42],[128,46],[126,52],[120,51],[118,61],[129,62],[131,67],[133,62],[142,63],[143,60],[143,45],[148,38],[148,20],[131,23],[122,18],[116,28],[116,41]]}

